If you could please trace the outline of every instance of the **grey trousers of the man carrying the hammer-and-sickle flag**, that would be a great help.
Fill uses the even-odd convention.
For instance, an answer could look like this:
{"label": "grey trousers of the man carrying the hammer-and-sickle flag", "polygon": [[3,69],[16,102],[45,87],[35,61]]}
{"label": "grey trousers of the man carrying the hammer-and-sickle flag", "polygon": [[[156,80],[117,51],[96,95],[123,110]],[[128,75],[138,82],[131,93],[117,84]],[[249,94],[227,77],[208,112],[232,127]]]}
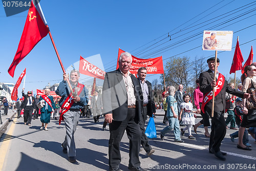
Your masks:
{"label": "grey trousers of the man carrying the hammer-and-sickle flag", "polygon": [[66,137],[65,137],[65,141],[63,142],[63,147],[68,149],[69,157],[76,156],[76,145],[75,145],[74,134],[76,132],[76,126],[79,121],[80,113],[81,113],[80,111],[78,112],[68,111],[63,115],[64,122],[66,125]]}

